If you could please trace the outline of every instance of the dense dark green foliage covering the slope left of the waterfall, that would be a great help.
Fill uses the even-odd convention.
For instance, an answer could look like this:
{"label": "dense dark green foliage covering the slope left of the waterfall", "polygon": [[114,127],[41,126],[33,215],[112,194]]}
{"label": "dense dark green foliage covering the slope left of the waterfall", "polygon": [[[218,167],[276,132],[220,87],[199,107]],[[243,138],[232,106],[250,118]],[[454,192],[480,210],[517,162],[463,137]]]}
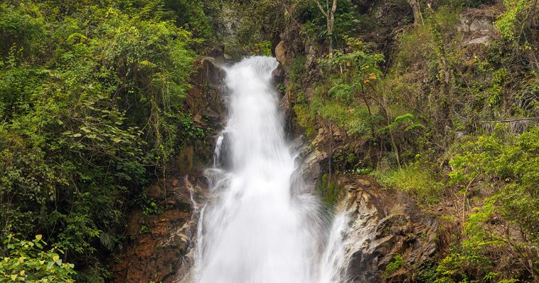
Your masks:
{"label": "dense dark green foliage covering the slope left of the waterfall", "polygon": [[0,4],[4,255],[16,255],[13,245],[45,245],[12,236],[39,233],[82,271],[62,276],[108,276],[102,262],[121,246],[126,207],[184,140],[199,138],[182,100],[209,24],[201,2],[191,2]]}

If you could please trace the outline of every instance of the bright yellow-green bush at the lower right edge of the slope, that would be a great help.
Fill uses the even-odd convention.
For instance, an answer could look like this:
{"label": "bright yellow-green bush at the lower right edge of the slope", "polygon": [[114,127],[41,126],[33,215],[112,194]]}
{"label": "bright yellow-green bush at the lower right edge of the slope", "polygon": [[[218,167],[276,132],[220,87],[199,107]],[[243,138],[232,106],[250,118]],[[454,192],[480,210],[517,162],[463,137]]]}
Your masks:
{"label": "bright yellow-green bush at the lower right edge of the slope", "polygon": [[[450,161],[451,182],[463,193],[474,185],[489,196],[465,221],[464,240],[438,265],[440,280],[532,280],[533,273],[539,273],[539,129],[523,134],[497,129],[488,136],[470,137],[457,150]],[[495,228],[494,224],[506,228]]]}

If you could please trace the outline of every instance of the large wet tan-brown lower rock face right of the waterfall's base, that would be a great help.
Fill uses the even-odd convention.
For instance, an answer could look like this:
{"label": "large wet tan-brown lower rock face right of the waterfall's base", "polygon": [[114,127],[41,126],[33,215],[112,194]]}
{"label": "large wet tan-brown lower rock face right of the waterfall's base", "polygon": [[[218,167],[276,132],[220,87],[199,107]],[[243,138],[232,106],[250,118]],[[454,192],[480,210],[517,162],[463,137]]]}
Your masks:
{"label": "large wet tan-brown lower rock face right of the waterfall's base", "polygon": [[[372,185],[362,185],[365,181]],[[345,236],[351,243],[350,282],[411,282],[404,271],[438,252],[438,221],[421,212],[406,195],[381,190],[374,180],[345,176],[340,183],[348,183],[352,192],[346,200],[351,224]],[[395,255],[401,255],[406,266],[387,274],[385,269]]]}

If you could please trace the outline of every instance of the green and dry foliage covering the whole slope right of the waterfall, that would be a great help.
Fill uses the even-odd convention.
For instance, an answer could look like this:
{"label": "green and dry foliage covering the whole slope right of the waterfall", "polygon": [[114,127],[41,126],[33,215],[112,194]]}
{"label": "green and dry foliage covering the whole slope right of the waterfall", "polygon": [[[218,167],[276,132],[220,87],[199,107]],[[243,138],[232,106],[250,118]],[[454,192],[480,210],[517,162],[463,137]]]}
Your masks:
{"label": "green and dry foliage covering the whole slope right of the waterfall", "polygon": [[[415,197],[427,212],[447,210],[440,221],[457,224],[450,253],[413,267],[410,277],[534,282],[539,7],[527,0],[407,2],[402,6],[419,4],[413,14],[421,18],[389,35],[393,42],[385,50],[368,40],[372,32],[384,33],[372,21],[391,18],[375,13],[390,4],[338,1],[351,28],[335,26],[333,54],[324,45],[321,15],[312,10],[311,18],[297,17],[306,44],[322,54],[315,64],[312,52],[287,64],[286,91],[297,93],[297,122],[310,137],[319,128],[345,132],[342,146],[330,152],[338,173],[370,173],[387,190]],[[496,11],[487,42],[469,43],[457,30],[470,7]],[[401,265],[402,258],[391,262],[386,275]]]}

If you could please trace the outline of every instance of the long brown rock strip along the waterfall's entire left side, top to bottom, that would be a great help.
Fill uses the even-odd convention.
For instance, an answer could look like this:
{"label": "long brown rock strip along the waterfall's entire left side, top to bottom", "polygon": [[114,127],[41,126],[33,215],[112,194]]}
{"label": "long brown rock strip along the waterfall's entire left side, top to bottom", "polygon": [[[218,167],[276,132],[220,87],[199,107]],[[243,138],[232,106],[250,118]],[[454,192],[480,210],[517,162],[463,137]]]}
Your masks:
{"label": "long brown rock strip along the waterfall's entire left side, top to bottom", "polygon": [[[165,172],[165,178],[149,187],[154,202],[148,209],[128,212],[127,241],[113,266],[113,282],[175,282],[189,270],[188,255],[196,237],[199,203],[208,189],[204,169],[213,162],[216,135],[222,129],[225,106],[221,96],[223,71],[216,60],[199,59],[186,110],[197,127],[206,129],[204,143],[184,144],[183,151]],[[210,130],[211,129],[211,130]],[[150,202],[150,201],[148,201]]]}

